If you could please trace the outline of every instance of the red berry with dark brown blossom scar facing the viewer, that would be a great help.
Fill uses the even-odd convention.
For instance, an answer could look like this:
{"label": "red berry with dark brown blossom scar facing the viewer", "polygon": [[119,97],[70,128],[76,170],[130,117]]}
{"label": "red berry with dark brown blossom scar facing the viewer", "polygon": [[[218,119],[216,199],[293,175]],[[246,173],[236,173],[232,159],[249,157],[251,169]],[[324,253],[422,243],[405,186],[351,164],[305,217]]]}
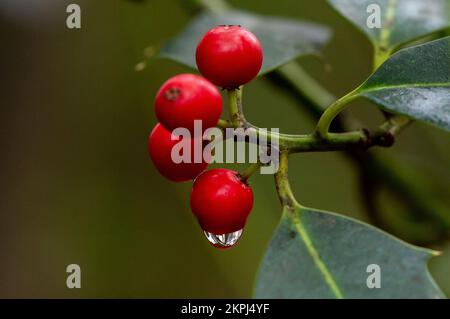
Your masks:
{"label": "red berry with dark brown blossom scar facing the viewer", "polygon": [[215,126],[222,114],[222,96],[211,82],[199,75],[176,75],[156,94],[155,113],[170,131],[184,127],[193,132],[194,120],[201,120],[206,130]]}

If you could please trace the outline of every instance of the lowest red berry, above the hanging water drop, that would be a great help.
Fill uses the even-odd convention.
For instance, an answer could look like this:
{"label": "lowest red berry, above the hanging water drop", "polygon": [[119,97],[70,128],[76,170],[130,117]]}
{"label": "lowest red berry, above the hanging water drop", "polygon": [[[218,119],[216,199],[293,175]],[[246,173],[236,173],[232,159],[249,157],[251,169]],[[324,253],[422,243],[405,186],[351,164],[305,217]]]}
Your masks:
{"label": "lowest red berry, above the hanging water drop", "polygon": [[227,234],[243,229],[253,207],[253,191],[237,172],[212,169],[194,182],[191,209],[203,230]]}

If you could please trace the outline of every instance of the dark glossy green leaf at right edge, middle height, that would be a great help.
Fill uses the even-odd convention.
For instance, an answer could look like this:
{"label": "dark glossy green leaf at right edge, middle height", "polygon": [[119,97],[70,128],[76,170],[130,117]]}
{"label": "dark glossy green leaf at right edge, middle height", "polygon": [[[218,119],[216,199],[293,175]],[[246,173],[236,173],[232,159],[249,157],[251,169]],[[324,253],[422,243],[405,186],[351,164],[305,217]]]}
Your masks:
{"label": "dark glossy green leaf at right edge, middle height", "polygon": [[450,37],[400,50],[353,94],[450,131]]}

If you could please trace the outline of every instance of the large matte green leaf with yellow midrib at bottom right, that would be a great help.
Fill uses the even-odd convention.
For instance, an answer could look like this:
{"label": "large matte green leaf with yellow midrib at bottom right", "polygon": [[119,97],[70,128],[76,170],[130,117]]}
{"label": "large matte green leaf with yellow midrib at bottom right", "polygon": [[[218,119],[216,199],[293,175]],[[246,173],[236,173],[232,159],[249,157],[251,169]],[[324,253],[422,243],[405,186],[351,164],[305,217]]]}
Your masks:
{"label": "large matte green leaf with yellow midrib at bottom right", "polygon": [[433,255],[344,216],[285,208],[255,297],[445,298],[427,270]]}

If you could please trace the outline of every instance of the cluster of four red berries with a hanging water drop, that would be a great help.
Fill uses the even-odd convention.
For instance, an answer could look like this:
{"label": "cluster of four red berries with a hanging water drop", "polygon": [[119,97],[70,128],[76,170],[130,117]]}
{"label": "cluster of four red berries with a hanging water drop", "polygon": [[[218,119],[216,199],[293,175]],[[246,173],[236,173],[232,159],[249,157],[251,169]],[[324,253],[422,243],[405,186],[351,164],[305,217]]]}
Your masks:
{"label": "cluster of four red berries with a hanging water drop", "polygon": [[[253,192],[238,172],[228,169],[205,171],[208,162],[175,163],[172,148],[186,137],[171,133],[176,128],[191,132],[194,121],[202,129],[217,125],[222,113],[222,96],[217,85],[238,89],[258,74],[263,60],[261,44],[254,34],[240,26],[218,26],[209,30],[197,46],[200,73],[172,77],[159,89],[155,99],[158,123],[148,140],[150,157],[166,178],[182,182],[195,179],[191,209],[208,240],[217,247],[235,244],[253,206]],[[194,144],[201,136],[194,136]],[[186,141],[183,141],[186,143]]]}

